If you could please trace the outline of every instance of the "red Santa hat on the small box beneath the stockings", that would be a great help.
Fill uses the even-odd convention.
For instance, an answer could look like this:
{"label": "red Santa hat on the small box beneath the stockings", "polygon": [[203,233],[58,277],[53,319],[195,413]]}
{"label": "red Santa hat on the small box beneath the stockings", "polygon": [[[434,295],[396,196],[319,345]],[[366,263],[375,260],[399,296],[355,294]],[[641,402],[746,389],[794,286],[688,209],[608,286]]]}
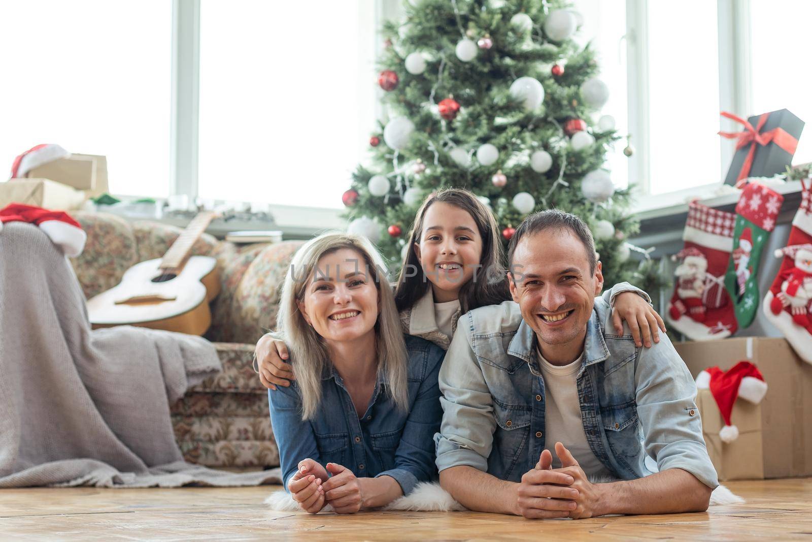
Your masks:
{"label": "red Santa hat on the small box beneath the stockings", "polygon": [[739,429],[732,424],[730,415],[733,403],[741,397],[754,405],[758,405],[767,394],[767,383],[758,367],[750,362],[738,362],[728,371],[719,367],[710,367],[697,375],[697,388],[710,389],[711,395],[719,406],[724,427],[719,431],[723,442],[732,442],[739,438]]}

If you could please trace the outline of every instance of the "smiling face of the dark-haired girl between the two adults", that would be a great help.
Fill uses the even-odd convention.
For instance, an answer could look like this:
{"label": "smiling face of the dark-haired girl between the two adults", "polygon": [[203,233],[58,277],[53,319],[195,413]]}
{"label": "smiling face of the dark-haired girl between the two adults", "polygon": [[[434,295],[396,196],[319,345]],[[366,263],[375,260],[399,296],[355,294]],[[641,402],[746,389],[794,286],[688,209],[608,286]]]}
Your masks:
{"label": "smiling face of the dark-haired girl between the two adults", "polygon": [[453,301],[479,266],[482,236],[467,210],[436,202],[423,215],[423,229],[414,249],[432,284],[434,301]]}

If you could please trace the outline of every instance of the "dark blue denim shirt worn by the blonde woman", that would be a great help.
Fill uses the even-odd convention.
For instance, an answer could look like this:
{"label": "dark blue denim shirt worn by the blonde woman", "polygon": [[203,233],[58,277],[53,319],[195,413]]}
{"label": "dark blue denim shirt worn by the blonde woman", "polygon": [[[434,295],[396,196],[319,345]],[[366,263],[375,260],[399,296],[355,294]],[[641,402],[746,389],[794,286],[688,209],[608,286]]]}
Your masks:
{"label": "dark blue denim shirt worn by the blonde woman", "polygon": [[[296,381],[289,388],[268,392],[270,422],[279,446],[282,479],[296,473],[299,462],[310,458],[325,466],[338,463],[358,478],[391,476],[404,495],[417,482],[436,479],[434,441],[443,410],[438,371],[443,350],[429,341],[405,336],[408,362],[408,410],[395,407],[378,382],[369,407],[358,417],[343,380],[332,365],[322,375],[322,399],[317,414],[302,420],[302,401]],[[295,363],[295,360],[293,361]]]}

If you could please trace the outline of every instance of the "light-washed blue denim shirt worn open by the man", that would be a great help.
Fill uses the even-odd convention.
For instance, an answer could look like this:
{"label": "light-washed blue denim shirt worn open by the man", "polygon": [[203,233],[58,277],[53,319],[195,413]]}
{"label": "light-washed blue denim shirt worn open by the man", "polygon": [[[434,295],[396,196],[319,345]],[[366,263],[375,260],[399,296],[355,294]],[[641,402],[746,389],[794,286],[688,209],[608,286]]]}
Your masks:
{"label": "light-washed blue denim shirt worn open by the man", "polygon": [[[687,470],[715,488],[697,388],[685,362],[664,334],[650,349],[638,349],[628,327],[622,336],[614,329],[608,304],[596,299],[577,375],[581,420],[595,457],[618,478],[637,479],[652,474],[644,463],[648,455],[660,471]],[[533,469],[545,448],[544,379],[535,332],[516,303],[460,318],[440,391],[438,470],[473,466],[518,482]]]}

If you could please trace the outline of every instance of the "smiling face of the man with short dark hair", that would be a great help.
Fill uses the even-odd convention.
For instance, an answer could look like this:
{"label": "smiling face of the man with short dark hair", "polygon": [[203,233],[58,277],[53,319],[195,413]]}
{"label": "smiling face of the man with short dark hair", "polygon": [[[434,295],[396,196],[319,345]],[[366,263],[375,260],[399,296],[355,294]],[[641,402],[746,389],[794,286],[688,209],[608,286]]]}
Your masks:
{"label": "smiling face of the man with short dark hair", "polygon": [[601,264],[590,273],[581,240],[566,229],[525,236],[508,276],[513,301],[543,345],[583,345],[594,297],[603,288]]}

